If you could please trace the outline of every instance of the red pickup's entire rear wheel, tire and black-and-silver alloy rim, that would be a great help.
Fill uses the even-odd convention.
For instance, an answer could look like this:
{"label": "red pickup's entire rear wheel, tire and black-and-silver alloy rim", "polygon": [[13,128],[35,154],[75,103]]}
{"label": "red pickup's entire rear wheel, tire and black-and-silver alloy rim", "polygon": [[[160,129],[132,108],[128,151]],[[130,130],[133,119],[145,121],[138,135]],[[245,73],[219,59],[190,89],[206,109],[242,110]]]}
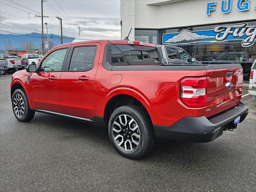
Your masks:
{"label": "red pickup's entire rear wheel, tire and black-and-silver alloy rim", "polygon": [[116,150],[131,159],[148,154],[154,144],[154,132],[148,115],[134,105],[114,110],[108,123],[108,134]]}

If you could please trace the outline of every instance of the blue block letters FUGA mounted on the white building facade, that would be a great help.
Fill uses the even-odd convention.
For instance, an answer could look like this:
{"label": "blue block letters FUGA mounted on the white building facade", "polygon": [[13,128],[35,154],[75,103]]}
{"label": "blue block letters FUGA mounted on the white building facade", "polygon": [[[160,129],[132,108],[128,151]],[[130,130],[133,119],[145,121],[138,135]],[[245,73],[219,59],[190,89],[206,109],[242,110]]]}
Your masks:
{"label": "blue block letters FUGA mounted on the white building facade", "polygon": [[[215,11],[217,3],[216,2],[210,2],[207,3],[207,9],[206,14],[208,16],[211,15],[212,11]],[[222,0],[221,1],[221,12],[222,13],[229,13],[232,8],[232,0]],[[248,11],[250,10],[250,0],[238,0],[236,4],[236,8],[239,11]],[[256,9],[256,5],[254,5],[254,9]]]}

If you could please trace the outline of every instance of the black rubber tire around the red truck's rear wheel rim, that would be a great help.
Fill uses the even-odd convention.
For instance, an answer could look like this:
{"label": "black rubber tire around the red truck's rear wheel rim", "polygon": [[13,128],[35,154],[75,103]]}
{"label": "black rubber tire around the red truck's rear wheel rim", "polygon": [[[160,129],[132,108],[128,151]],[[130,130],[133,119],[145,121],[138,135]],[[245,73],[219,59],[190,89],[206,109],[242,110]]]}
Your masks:
{"label": "black rubber tire around the red truck's rear wheel rim", "polygon": [[[115,132],[113,131],[113,125],[114,125],[114,122],[118,119],[118,117],[122,116],[122,115],[128,115],[128,118],[132,118],[138,125],[140,139],[138,141],[138,145],[134,149],[132,149],[132,147],[130,146],[130,150],[132,149],[131,151],[127,151],[126,149],[123,149],[122,147],[118,146],[116,140],[114,139]],[[127,120],[127,122],[128,122],[128,120]],[[122,126],[122,128],[120,128],[120,129],[122,132],[122,130],[125,130],[125,126],[123,126],[123,125],[121,125],[121,126]],[[130,127],[130,126],[128,126],[128,127]],[[130,131],[130,129],[128,129],[128,130]],[[120,132],[120,134],[121,134],[121,132]],[[146,112],[144,110],[142,110],[140,107],[134,106],[134,105],[125,105],[125,106],[116,108],[116,110],[114,110],[114,112],[111,114],[109,122],[108,122],[108,135],[109,135],[109,138],[110,138],[112,144],[116,148],[116,150],[122,156],[124,156],[126,158],[130,158],[130,159],[136,159],[136,158],[141,158],[142,156],[145,156],[146,154],[148,154],[148,152],[150,152],[150,150],[152,149],[152,147],[154,145],[154,131],[153,131],[153,126],[150,121],[150,118],[148,117],[148,115],[146,114]],[[132,136],[130,136],[130,141],[131,141],[131,138],[132,138]],[[127,134],[126,134],[126,139],[123,136],[122,141],[124,142],[125,140],[128,140]],[[119,142],[119,144],[120,144],[120,142]],[[132,144],[134,144],[134,143],[132,143]]]}

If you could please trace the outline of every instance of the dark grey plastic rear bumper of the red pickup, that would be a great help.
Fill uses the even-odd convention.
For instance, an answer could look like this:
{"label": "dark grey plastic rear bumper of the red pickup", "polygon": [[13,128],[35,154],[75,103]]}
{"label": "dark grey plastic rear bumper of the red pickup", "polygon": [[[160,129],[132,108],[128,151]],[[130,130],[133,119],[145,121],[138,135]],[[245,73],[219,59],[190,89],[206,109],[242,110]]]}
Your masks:
{"label": "dark grey plastic rear bumper of the red pickup", "polygon": [[154,125],[156,137],[193,142],[210,142],[223,134],[223,130],[234,126],[233,122],[241,116],[242,122],[248,114],[248,107],[238,105],[210,118],[184,117],[171,126]]}

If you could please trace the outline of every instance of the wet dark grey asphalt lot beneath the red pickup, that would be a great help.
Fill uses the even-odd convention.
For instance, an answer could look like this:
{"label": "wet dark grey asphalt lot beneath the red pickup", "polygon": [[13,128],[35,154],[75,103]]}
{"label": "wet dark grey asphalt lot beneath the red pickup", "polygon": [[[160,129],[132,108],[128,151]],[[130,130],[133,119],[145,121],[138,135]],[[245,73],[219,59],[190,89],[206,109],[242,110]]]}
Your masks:
{"label": "wet dark grey asphalt lot beneath the red pickup", "polygon": [[[233,132],[209,143],[157,140],[148,156],[118,154],[104,128],[12,113],[11,75],[0,76],[0,191],[256,191],[256,102]],[[244,89],[244,94],[248,91]]]}

